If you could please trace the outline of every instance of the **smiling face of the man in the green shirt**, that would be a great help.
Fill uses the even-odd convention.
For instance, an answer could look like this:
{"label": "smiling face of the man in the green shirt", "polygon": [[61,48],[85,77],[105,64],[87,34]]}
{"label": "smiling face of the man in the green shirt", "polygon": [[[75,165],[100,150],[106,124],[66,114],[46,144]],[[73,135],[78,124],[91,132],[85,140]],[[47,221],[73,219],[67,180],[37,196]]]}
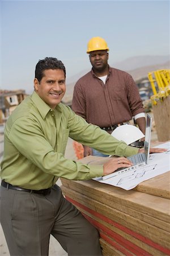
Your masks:
{"label": "smiling face of the man in the green shirt", "polygon": [[43,73],[40,82],[34,80],[34,88],[40,98],[55,109],[66,92],[65,73],[62,69],[46,69]]}

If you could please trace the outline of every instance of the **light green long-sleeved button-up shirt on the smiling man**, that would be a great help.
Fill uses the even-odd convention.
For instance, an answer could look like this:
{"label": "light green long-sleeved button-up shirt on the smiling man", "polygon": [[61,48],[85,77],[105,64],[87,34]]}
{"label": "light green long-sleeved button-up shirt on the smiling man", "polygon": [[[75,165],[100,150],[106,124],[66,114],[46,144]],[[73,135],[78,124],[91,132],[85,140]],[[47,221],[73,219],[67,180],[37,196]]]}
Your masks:
{"label": "light green long-sleeved button-up shirt on the smiling man", "polygon": [[90,125],[68,106],[50,109],[33,92],[7,119],[1,179],[27,189],[52,187],[58,177],[88,180],[103,175],[103,166],[66,159],[67,139],[96,148],[104,154],[130,156],[138,149]]}

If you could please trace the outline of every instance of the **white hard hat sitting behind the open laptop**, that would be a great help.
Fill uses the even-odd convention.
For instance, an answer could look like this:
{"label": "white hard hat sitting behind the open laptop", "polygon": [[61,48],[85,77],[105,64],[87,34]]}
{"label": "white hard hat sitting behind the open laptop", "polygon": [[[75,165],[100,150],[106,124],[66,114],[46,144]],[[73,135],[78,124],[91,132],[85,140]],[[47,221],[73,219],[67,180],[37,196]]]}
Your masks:
{"label": "white hard hat sitting behind the open laptop", "polygon": [[127,145],[145,137],[142,131],[133,125],[118,126],[112,131],[111,135],[118,141],[124,141]]}

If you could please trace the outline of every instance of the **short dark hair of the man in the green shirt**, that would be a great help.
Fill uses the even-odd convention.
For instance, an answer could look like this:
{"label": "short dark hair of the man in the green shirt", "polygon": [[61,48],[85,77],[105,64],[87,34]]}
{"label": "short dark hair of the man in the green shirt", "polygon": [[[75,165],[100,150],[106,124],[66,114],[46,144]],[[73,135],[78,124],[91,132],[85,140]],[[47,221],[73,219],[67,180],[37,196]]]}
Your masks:
{"label": "short dark hair of the man in the green shirt", "polygon": [[44,76],[44,71],[46,69],[62,69],[66,77],[66,69],[61,60],[53,57],[45,57],[44,60],[39,60],[36,64],[35,78],[39,80],[39,82]]}

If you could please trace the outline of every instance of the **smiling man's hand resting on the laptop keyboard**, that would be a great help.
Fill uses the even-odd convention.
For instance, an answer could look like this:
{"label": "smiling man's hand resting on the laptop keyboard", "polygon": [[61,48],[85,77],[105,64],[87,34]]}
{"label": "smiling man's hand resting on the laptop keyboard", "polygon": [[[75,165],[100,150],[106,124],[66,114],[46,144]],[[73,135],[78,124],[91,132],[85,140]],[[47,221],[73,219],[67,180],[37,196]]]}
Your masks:
{"label": "smiling man's hand resting on the laptop keyboard", "polygon": [[113,158],[103,165],[103,174],[108,175],[116,171],[118,168],[126,168],[133,166],[127,158]]}

